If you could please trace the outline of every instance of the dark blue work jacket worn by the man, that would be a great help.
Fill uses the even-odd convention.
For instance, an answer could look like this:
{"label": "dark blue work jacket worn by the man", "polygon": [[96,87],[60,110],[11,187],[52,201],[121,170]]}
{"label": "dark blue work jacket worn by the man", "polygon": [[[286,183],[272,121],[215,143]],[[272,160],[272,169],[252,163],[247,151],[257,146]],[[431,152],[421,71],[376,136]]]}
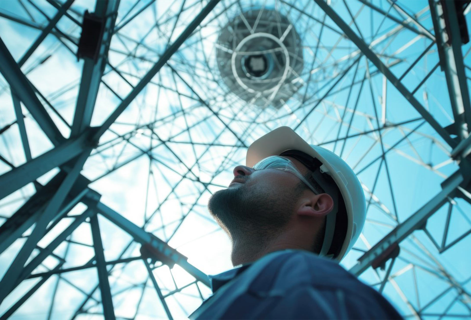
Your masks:
{"label": "dark blue work jacket worn by the man", "polygon": [[269,253],[211,278],[194,319],[403,319],[338,263],[304,250]]}

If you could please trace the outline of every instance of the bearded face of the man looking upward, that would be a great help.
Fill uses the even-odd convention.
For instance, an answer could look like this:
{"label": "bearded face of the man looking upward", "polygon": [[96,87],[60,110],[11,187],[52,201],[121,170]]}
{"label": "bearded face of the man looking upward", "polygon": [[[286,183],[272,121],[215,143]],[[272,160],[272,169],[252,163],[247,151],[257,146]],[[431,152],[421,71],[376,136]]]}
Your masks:
{"label": "bearded face of the man looking upward", "polygon": [[[301,174],[308,172],[298,160],[285,158]],[[211,196],[208,209],[231,238],[244,237],[253,231],[260,238],[268,237],[286,227],[304,188],[303,182],[290,172],[238,165],[234,168],[234,180],[227,189]]]}

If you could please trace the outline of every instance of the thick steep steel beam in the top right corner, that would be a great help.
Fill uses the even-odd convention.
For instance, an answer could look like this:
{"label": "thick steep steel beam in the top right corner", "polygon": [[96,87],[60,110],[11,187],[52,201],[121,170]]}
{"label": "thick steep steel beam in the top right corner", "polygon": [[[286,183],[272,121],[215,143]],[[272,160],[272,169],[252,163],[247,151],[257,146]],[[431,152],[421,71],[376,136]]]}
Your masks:
{"label": "thick steep steel beam in the top right corner", "polygon": [[[468,138],[468,132],[471,130],[471,104],[464,72],[460,27],[456,18],[455,3],[454,1],[429,0],[429,5],[435,34],[437,38],[440,38],[437,41],[437,49],[440,53],[440,64],[447,79],[456,133],[459,139],[463,140]],[[450,45],[448,41],[451,42]]]}

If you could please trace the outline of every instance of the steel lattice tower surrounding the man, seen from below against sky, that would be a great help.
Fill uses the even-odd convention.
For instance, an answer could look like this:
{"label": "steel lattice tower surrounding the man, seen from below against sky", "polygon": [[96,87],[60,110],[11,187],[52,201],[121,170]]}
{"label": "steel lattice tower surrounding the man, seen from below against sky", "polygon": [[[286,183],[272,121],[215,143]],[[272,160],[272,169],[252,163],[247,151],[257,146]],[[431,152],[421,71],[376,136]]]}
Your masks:
{"label": "steel lattice tower surrounding the man, seen from below against sky", "polygon": [[185,318],[230,269],[206,204],[287,125],[349,163],[345,268],[471,317],[469,1],[0,1],[1,319]]}

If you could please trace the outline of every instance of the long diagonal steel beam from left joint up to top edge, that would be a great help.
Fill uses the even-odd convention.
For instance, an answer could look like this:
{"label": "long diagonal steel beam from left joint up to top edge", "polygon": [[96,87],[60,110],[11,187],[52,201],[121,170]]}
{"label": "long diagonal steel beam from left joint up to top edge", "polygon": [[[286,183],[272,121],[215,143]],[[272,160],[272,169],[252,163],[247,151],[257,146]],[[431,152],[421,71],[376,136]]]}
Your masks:
{"label": "long diagonal steel beam from left joint up to top edge", "polygon": [[97,133],[94,135],[94,140],[98,141],[100,137],[105,133],[106,130],[116,121],[116,119],[121,115],[121,113],[129,106],[132,100],[138,96],[138,94],[144,89],[144,87],[149,83],[154,75],[159,72],[159,70],[164,66],[170,57],[179,49],[179,47],[187,40],[190,34],[196,29],[198,25],[204,20],[204,18],[211,12],[211,10],[219,3],[219,0],[209,1],[206,7],[201,10],[201,12],[193,19],[192,22],[187,26],[187,28],[180,34],[180,36],[172,43],[172,45],[165,50],[165,52],[160,56],[159,61],[147,72],[145,76],[142,77],[141,81],[134,87],[134,89],[128,94],[126,98],[122,100],[114,112],[106,119],[106,121],[101,125]]}

